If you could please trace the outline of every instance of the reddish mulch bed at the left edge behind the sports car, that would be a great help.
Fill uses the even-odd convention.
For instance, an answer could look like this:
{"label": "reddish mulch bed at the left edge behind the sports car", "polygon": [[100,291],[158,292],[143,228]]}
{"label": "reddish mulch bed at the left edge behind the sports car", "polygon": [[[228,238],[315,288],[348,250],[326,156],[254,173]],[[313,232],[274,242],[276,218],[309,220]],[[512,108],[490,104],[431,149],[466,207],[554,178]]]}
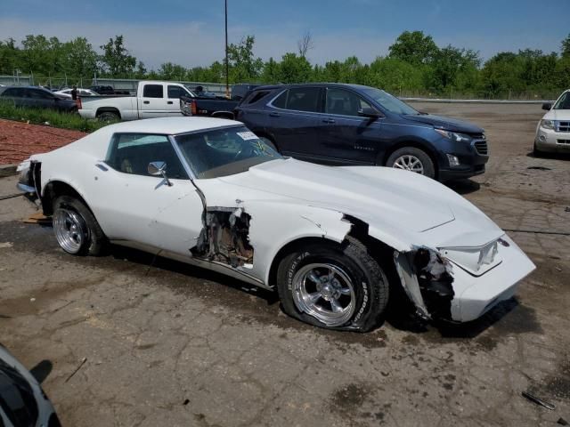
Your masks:
{"label": "reddish mulch bed at the left edge behind the sports car", "polygon": [[0,119],[0,165],[20,163],[31,154],[59,149],[85,135],[79,131]]}

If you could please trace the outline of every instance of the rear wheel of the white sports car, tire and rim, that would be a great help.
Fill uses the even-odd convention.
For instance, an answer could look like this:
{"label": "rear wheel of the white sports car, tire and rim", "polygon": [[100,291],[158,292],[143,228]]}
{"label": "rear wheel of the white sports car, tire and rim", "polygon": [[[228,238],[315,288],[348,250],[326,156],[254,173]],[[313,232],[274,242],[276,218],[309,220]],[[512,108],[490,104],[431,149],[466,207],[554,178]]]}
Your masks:
{"label": "rear wheel of the white sports car, tire and rim", "polygon": [[107,239],[94,215],[75,197],[60,196],[53,203],[55,238],[68,254],[102,254]]}

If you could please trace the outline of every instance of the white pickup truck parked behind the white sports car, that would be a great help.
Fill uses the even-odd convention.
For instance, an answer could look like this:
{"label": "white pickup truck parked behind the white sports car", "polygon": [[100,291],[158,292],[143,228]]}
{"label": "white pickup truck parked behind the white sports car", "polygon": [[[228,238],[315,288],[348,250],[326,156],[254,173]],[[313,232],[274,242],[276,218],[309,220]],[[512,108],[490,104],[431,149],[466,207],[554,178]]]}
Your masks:
{"label": "white pickup truck parked behind the white sports car", "polygon": [[77,100],[81,117],[102,121],[136,120],[138,118],[182,116],[180,97],[196,95],[180,83],[139,82],[134,96],[90,96]]}

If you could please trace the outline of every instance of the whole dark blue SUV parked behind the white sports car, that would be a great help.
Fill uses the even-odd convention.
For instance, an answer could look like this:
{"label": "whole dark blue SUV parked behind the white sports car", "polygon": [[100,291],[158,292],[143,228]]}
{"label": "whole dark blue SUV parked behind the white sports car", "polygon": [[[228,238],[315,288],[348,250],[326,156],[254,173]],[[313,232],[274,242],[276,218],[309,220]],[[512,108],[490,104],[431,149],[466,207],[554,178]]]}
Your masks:
{"label": "whole dark blue SUV parked behind the white sports car", "polygon": [[382,165],[439,181],[485,173],[485,131],[424,114],[362,85],[258,86],[236,120],[283,155],[325,165]]}

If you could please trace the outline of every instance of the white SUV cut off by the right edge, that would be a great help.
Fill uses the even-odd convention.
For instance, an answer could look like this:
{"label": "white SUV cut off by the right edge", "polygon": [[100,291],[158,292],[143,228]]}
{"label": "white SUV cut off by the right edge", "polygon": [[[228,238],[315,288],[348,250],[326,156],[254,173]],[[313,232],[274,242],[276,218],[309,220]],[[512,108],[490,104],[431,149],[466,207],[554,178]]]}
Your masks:
{"label": "white SUV cut off by the right edge", "polygon": [[554,106],[542,104],[549,110],[536,126],[534,154],[542,152],[570,153],[570,89],[562,93]]}

